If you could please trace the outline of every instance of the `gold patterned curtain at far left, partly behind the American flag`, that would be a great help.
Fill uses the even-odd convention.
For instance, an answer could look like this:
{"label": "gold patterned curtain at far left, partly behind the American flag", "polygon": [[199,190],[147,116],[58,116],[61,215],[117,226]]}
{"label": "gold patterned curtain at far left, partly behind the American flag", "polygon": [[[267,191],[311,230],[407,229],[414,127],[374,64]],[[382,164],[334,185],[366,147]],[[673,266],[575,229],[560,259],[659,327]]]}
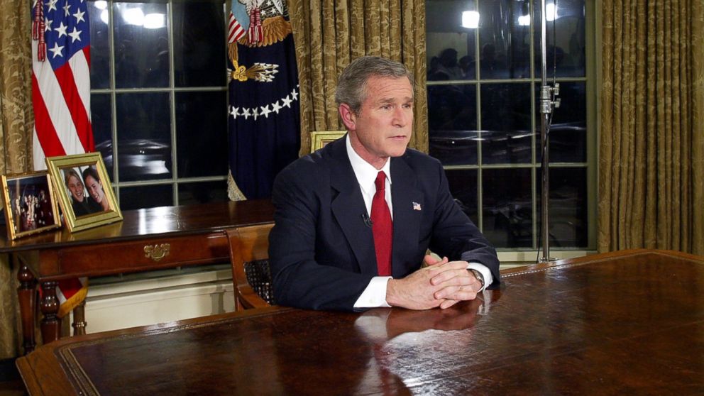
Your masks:
{"label": "gold patterned curtain at far left, partly behind the American flag", "polygon": [[[0,172],[32,169],[31,19],[26,1],[0,0]],[[0,255],[0,359],[20,353],[17,266]]]}

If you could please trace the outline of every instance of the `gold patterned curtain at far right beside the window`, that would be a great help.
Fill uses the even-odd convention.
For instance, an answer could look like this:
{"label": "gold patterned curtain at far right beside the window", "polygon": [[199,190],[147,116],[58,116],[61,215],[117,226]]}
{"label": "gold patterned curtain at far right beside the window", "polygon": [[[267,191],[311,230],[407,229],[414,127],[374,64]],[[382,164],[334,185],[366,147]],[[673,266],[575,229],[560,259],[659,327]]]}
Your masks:
{"label": "gold patterned curtain at far right beside the window", "polygon": [[603,0],[599,251],[704,254],[704,4]]}

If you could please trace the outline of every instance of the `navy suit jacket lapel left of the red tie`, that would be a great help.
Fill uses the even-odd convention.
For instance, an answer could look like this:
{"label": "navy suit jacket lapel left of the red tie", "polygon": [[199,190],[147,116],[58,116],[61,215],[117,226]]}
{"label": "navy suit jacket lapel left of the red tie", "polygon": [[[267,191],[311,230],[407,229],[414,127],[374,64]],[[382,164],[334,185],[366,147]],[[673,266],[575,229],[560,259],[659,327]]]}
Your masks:
{"label": "navy suit jacket lapel left of the red tie", "polygon": [[376,273],[376,254],[371,227],[365,224],[367,209],[364,206],[359,183],[347,157],[345,140],[332,145],[331,188],[337,193],[331,199],[331,210],[350,244],[362,273]]}

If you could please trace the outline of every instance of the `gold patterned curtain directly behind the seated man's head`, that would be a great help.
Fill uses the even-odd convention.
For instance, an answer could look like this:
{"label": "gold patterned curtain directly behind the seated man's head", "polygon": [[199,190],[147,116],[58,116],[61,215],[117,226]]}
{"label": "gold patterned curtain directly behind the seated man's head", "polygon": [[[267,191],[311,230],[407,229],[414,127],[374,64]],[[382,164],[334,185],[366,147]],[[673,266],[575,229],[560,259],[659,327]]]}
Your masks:
{"label": "gold patterned curtain directly behind the seated man's head", "polygon": [[410,146],[427,153],[424,0],[289,0],[298,62],[301,155],[310,133],[344,128],[337,115],[337,77],[351,60],[378,55],[403,62],[415,77]]}

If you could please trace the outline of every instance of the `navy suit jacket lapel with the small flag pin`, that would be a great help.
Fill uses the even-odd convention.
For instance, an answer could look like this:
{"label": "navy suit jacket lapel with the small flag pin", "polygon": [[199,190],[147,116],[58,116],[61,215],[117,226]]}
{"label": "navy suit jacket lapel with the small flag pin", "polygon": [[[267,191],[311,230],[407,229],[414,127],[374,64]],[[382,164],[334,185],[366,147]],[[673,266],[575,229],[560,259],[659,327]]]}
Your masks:
{"label": "navy suit jacket lapel with the small flag pin", "polygon": [[417,186],[417,176],[404,157],[391,159],[391,202],[393,204],[392,273],[405,277],[417,269],[418,233],[425,208],[424,195]]}

